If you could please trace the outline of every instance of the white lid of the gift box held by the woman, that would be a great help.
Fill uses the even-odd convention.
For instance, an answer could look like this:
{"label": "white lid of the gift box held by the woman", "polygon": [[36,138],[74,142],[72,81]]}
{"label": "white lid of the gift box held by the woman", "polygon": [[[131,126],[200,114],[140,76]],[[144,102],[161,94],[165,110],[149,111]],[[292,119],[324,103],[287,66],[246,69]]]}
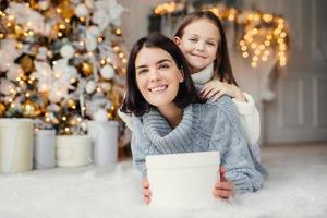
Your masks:
{"label": "white lid of the gift box held by the woman", "polygon": [[219,152],[180,153],[145,157],[147,169],[219,166]]}

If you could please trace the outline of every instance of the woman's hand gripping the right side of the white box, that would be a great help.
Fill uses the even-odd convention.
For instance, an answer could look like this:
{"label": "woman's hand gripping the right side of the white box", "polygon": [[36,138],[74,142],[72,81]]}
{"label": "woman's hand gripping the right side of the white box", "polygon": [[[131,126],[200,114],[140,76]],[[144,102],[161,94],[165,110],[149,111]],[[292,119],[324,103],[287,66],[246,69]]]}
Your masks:
{"label": "woman's hand gripping the right side of the white box", "polygon": [[230,198],[234,195],[234,185],[231,181],[227,180],[225,167],[219,168],[220,181],[217,181],[214,189],[214,196],[219,198]]}

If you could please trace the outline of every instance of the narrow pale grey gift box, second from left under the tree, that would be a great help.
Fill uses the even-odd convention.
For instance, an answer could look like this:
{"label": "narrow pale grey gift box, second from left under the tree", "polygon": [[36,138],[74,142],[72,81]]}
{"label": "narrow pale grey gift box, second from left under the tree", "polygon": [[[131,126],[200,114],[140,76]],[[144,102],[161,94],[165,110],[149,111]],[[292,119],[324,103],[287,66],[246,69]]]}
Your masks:
{"label": "narrow pale grey gift box, second from left under the tree", "polygon": [[56,131],[39,130],[34,135],[34,169],[49,169],[56,166]]}

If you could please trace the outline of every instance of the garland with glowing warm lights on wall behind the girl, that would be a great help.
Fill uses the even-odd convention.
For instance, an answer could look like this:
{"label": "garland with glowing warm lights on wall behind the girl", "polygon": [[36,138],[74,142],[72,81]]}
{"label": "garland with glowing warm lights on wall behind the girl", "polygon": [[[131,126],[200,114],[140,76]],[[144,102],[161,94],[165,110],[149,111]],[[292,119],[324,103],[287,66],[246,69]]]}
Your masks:
{"label": "garland with glowing warm lights on wall behind the girl", "polygon": [[[213,1],[172,1],[157,5],[149,15],[149,32],[161,31],[162,20],[180,21],[185,14],[195,10],[213,11],[225,26],[235,31],[235,47],[252,68],[278,57],[278,65],[287,64],[289,34],[286,20],[271,13],[261,11],[241,11],[233,7],[213,3]],[[276,57],[276,56],[275,56]]]}

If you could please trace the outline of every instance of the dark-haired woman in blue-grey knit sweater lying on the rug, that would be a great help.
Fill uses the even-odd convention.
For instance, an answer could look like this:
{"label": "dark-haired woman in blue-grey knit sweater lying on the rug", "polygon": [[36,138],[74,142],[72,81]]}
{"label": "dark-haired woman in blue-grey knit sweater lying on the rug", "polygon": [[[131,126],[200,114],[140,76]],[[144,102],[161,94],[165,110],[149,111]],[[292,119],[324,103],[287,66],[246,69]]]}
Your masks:
{"label": "dark-haired woman in blue-grey knit sweater lying on the rug", "polygon": [[220,169],[222,180],[213,187],[216,197],[262,187],[263,175],[254,167],[231,98],[204,104],[173,41],[156,34],[136,41],[126,80],[122,111],[132,113],[133,161],[144,177],[146,203],[147,155],[219,150],[226,170]]}

